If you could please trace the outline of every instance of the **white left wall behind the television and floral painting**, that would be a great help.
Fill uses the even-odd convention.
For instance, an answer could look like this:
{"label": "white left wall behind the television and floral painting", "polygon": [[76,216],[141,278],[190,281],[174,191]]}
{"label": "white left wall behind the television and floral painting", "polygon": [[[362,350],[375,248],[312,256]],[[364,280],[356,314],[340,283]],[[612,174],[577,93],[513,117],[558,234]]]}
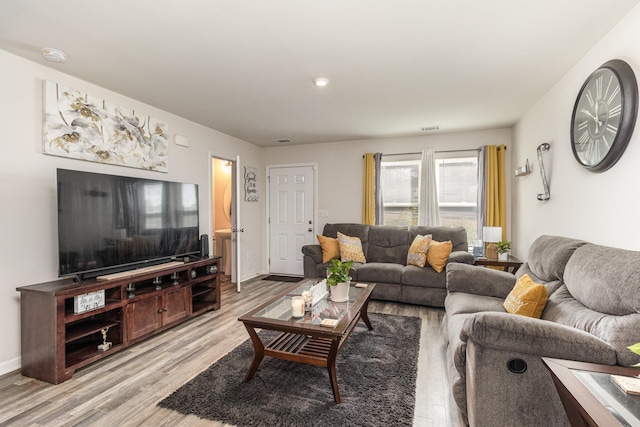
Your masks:
{"label": "white left wall behind the television and floral painting", "polygon": [[[64,69],[64,66],[59,66]],[[56,168],[77,169],[169,181],[200,187],[200,232],[211,233],[210,156],[235,159],[262,170],[261,149],[247,142],[185,120],[157,108],[72,78],[52,68],[0,50],[0,374],[20,366],[20,303],[16,287],[57,278]],[[42,154],[43,80],[52,80],[103,97],[115,104],[149,112],[169,125],[169,173],[65,159]],[[173,135],[190,140],[190,147],[173,143]],[[264,187],[261,189],[263,190]],[[242,235],[245,259],[242,277],[265,270],[260,245],[264,195],[259,203],[243,203]],[[211,241],[211,239],[210,239]]]}

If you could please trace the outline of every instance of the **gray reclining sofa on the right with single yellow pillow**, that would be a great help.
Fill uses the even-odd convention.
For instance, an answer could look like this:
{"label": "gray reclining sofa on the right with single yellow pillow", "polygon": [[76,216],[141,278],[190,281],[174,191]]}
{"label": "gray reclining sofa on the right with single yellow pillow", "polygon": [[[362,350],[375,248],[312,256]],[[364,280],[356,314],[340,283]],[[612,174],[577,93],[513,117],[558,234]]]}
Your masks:
{"label": "gray reclining sofa on the right with single yellow pillow", "polygon": [[566,426],[542,357],[630,366],[640,356],[640,252],[541,236],[517,277],[546,286],[541,319],[509,314],[516,276],[447,266],[447,362],[453,396],[471,426]]}

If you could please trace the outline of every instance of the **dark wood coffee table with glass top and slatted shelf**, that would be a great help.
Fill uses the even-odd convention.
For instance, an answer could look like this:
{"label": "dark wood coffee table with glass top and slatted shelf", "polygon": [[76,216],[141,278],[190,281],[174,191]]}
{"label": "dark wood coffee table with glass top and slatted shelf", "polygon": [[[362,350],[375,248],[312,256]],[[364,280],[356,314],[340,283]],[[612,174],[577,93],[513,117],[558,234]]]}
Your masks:
{"label": "dark wood coffee table with glass top and slatted shelf", "polygon": [[[336,403],[340,403],[336,358],[360,319],[369,330],[373,329],[367,316],[367,307],[376,285],[368,283],[366,287],[359,288],[352,283],[349,288],[349,301],[333,302],[327,296],[314,304],[311,310],[305,311],[304,317],[292,317],[292,298],[300,296],[313,284],[315,281],[299,282],[238,319],[247,328],[255,350],[253,363],[244,381],[251,380],[264,356],[326,367],[333,397]],[[334,319],[337,324],[322,326],[320,323],[324,319]],[[256,329],[282,333],[265,345]]]}

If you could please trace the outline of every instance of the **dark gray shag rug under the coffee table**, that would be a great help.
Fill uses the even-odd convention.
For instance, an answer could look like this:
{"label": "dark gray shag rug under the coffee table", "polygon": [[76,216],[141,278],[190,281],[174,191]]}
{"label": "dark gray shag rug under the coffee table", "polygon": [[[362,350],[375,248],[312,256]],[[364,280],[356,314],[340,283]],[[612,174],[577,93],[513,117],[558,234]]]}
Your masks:
{"label": "dark gray shag rug under the coffee table", "polygon": [[[420,347],[418,317],[369,314],[338,355],[342,403],[325,368],[265,357],[248,383],[249,339],[158,405],[237,426],[411,426]],[[275,336],[260,332],[263,341]]]}

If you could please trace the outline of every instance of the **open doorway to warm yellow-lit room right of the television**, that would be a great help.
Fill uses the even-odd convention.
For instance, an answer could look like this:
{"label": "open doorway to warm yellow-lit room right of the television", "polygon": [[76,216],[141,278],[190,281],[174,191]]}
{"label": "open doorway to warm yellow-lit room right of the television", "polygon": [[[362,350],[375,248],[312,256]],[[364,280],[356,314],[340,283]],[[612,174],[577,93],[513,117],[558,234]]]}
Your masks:
{"label": "open doorway to warm yellow-lit room right of the television", "polygon": [[211,158],[211,230],[213,254],[222,256],[220,270],[224,280],[235,282],[232,250],[233,230],[233,162]]}

